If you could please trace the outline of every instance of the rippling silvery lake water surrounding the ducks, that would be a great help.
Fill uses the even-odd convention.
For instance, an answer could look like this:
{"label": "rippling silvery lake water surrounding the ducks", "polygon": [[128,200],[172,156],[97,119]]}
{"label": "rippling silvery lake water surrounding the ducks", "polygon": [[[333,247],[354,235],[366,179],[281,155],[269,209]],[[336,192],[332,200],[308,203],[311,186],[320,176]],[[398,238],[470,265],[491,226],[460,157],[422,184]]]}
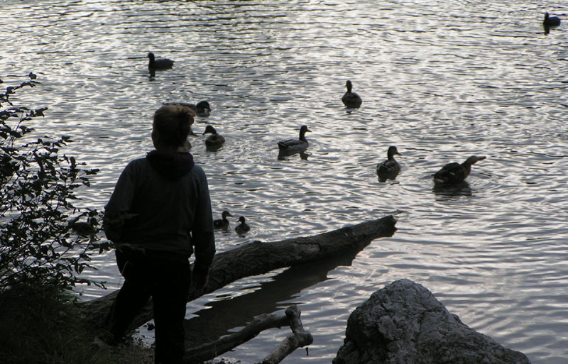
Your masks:
{"label": "rippling silvery lake water surrounding the ducks", "polygon": [[[49,106],[38,133],[99,168],[80,206],[103,209],[124,165],[151,149],[164,101],[209,100],[226,138],[190,138],[214,214],[246,216],[245,238],[312,235],[393,214],[398,231],[353,257],[235,282],[188,304],[218,331],[302,310],[315,338],[284,363],[330,363],[351,311],[408,278],[465,324],[532,363],[568,363],[568,11],[564,1],[0,1],[0,79],[40,87],[13,101]],[[560,16],[545,34],[545,11]],[[149,77],[146,54],[175,60]],[[361,109],[341,102],[345,82]],[[311,133],[307,160],[277,160],[278,140]],[[379,182],[389,145],[402,166]],[[466,186],[435,189],[447,162],[486,155]],[[217,216],[216,216],[217,217]],[[231,221],[236,224],[236,218]],[[253,262],[251,262],[253,264]],[[91,277],[121,279],[111,253]],[[107,292],[85,287],[83,297]],[[197,312],[197,315],[195,314]],[[288,330],[227,353],[261,360]],[[152,335],[152,333],[150,333]]]}

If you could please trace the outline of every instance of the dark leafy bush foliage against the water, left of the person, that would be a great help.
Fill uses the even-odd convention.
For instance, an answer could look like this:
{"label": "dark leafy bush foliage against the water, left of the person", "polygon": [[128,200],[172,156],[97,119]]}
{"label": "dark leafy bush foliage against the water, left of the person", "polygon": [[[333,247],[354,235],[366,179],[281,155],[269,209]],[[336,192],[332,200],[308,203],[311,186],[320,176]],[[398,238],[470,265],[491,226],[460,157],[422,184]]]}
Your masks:
{"label": "dark leafy bush foliage against the water, left of the person", "polygon": [[32,137],[26,123],[48,108],[28,109],[10,100],[40,84],[33,73],[28,77],[0,94],[0,293],[20,283],[102,286],[78,277],[89,266],[89,254],[110,248],[97,243],[100,213],[73,205],[77,189],[89,186],[97,170],[83,170],[84,163],[60,153],[72,142],[69,136]]}

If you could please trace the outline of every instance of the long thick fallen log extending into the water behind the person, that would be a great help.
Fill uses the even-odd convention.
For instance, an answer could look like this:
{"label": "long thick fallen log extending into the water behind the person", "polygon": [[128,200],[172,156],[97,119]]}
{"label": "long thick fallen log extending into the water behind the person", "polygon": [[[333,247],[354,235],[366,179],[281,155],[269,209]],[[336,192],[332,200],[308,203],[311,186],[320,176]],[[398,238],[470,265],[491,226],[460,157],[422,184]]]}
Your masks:
{"label": "long thick fallen log extending into the water behind the person", "polygon": [[[272,243],[254,241],[239,248],[218,253],[213,260],[209,282],[204,292],[200,294],[195,289],[191,289],[187,301],[192,301],[202,294],[214,292],[244,277],[265,274],[278,268],[312,262],[346,251],[361,250],[376,238],[392,236],[396,231],[395,224],[396,219],[389,215],[315,236],[290,238]],[[104,319],[117,292],[83,302],[81,309],[84,318],[94,327],[103,328]],[[152,304],[148,302],[136,316],[130,329],[138,328],[152,317]]]}

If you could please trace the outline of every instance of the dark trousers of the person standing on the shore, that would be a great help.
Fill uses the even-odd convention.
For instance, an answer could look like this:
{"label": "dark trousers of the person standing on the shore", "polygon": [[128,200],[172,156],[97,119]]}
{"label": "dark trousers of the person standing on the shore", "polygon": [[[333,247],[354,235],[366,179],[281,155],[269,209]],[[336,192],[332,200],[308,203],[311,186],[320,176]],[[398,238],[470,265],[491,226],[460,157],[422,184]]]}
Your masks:
{"label": "dark trousers of the person standing on the shore", "polygon": [[183,322],[190,289],[189,257],[160,252],[116,250],[124,276],[109,314],[111,343],[119,343],[134,317],[152,297],[155,323],[155,363],[182,363],[185,352]]}

